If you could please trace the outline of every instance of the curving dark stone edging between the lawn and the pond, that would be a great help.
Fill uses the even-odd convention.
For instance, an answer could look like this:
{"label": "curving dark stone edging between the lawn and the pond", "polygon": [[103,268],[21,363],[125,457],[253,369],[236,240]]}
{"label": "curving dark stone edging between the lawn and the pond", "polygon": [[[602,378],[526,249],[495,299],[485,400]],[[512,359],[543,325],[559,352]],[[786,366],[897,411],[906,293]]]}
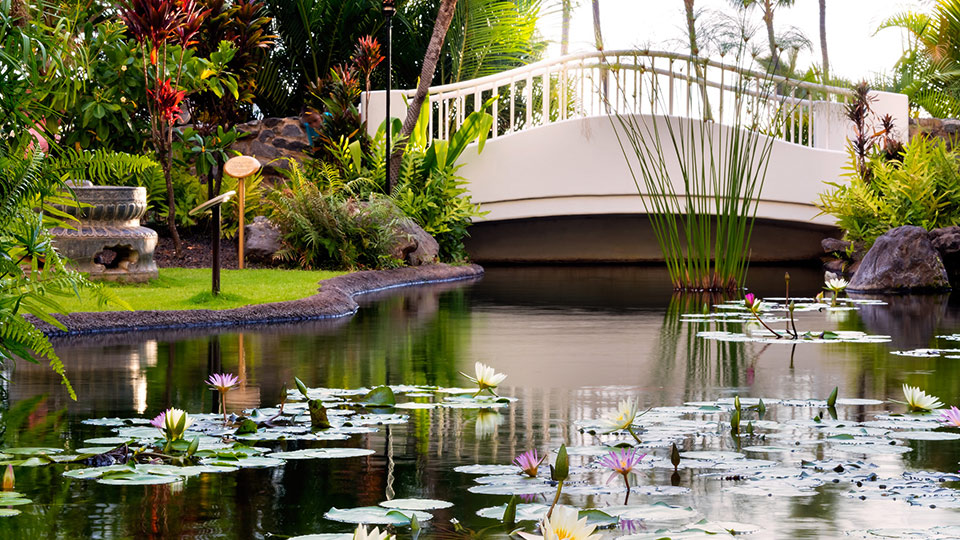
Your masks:
{"label": "curving dark stone edging between the lawn and the pond", "polygon": [[482,275],[483,268],[475,264],[436,264],[393,270],[366,270],[322,280],[316,294],[288,302],[224,310],[108,311],[57,316],[67,327],[66,331],[37,319],[33,322],[47,336],[54,337],[330,319],[355,313],[358,305],[354,297],[361,294],[395,287],[467,280]]}

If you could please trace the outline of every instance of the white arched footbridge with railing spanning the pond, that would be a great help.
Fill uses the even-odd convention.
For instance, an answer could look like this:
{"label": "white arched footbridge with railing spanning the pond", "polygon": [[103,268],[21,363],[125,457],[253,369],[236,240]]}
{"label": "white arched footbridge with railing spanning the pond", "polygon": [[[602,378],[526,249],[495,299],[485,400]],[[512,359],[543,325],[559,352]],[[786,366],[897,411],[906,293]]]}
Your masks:
{"label": "white arched footbridge with railing spanning the pond", "polygon": [[[413,93],[393,93],[393,116],[404,116]],[[802,260],[821,254],[820,239],[834,232],[833,219],[814,203],[824,182],[845,172],[853,126],[844,103],[852,94],[676,53],[591,52],[431,88],[427,134],[447,138],[472,111],[496,118],[482,153],[474,144],[460,158],[459,173],[487,212],[471,228],[475,260],[656,261],[662,256],[646,217],[647,194],[630,175],[614,115],[661,123],[710,118],[715,130],[743,125],[738,114],[778,115],[779,127],[766,131],[774,140],[752,259]],[[904,140],[906,96],[872,94],[875,117],[890,114]],[[734,106],[744,95],[753,100],[747,113]],[[385,97],[371,93],[369,126],[383,120]],[[661,144],[672,152],[669,139]],[[667,167],[677,171],[670,178],[682,194],[678,164]]]}

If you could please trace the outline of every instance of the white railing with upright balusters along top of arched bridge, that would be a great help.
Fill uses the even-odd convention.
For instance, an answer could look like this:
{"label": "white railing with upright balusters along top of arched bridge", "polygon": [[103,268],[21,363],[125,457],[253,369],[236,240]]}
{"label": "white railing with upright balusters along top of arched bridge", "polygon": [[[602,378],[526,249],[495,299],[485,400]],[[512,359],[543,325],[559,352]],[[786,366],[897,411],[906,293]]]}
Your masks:
{"label": "white railing with upright balusters along top of arched bridge", "polygon": [[[377,94],[380,94],[379,96]],[[392,107],[415,90],[397,91]],[[723,124],[756,125],[778,116],[768,134],[787,142],[841,150],[850,128],[843,116],[849,88],[771,75],[739,65],[654,50],[614,50],[543,60],[479,79],[432,87],[428,137],[446,139],[473,111],[486,110],[496,121],[496,139],[572,118],[660,114],[711,119]],[[906,100],[875,93],[874,112],[891,112],[906,135]],[[368,125],[382,120],[382,92],[373,93]],[[740,106],[737,100],[751,99]],[[364,100],[365,101],[365,100]],[[425,104],[427,106],[427,104]],[[380,118],[377,113],[380,112]],[[749,114],[753,121],[742,116]],[[735,116],[740,115],[739,121]]]}

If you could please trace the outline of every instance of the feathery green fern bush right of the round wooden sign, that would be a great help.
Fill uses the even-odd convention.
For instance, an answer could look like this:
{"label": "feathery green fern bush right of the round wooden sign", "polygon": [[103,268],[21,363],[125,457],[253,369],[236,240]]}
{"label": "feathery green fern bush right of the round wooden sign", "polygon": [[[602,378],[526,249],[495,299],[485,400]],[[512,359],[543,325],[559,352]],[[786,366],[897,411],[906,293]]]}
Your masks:
{"label": "feathery green fern bush right of the round wooden sign", "polygon": [[283,231],[281,260],[302,268],[389,268],[400,233],[396,208],[383,197],[366,200],[324,193],[291,161],[289,181],[269,198],[271,219]]}

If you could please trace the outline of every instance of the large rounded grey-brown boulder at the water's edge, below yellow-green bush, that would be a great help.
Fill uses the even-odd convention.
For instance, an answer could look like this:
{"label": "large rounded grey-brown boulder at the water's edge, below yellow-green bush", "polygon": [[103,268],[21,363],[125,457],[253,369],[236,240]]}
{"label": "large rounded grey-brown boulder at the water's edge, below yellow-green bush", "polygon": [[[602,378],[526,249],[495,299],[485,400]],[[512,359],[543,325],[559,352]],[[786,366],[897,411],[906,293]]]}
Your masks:
{"label": "large rounded grey-brown boulder at the water's edge, below yellow-green bush", "polygon": [[950,288],[940,253],[922,227],[885,232],[867,252],[847,287],[860,292],[942,291]]}

